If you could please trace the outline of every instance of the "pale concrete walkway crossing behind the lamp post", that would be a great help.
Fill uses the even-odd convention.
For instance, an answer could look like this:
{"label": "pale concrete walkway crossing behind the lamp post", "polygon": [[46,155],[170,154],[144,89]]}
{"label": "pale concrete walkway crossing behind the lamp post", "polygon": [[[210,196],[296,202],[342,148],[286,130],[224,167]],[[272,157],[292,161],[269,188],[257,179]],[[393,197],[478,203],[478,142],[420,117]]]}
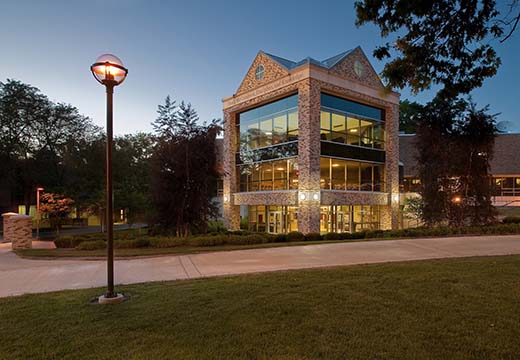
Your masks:
{"label": "pale concrete walkway crossing behind the lamp post", "polygon": [[[37,246],[42,246],[36,242]],[[0,297],[106,284],[100,260],[28,260],[0,244]],[[520,235],[409,239],[117,260],[118,284],[392,261],[520,254]]]}

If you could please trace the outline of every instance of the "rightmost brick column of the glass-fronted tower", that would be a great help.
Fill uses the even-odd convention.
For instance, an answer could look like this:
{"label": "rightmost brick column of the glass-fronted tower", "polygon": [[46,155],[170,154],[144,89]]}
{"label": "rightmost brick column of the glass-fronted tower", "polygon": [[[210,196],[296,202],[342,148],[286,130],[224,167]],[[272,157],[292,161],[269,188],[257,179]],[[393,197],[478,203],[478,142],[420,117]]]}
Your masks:
{"label": "rightmost brick column of the glass-fronted tower", "polygon": [[382,208],[381,226],[384,230],[399,227],[399,105],[386,108],[386,192],[388,205]]}

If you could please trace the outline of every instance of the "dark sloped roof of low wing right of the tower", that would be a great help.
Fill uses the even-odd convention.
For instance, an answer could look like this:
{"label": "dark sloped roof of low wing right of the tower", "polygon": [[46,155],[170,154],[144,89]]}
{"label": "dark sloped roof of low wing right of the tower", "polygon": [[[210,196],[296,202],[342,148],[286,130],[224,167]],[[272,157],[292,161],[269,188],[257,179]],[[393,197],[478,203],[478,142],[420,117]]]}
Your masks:
{"label": "dark sloped roof of low wing right of the tower", "polygon": [[[399,136],[399,159],[404,164],[404,176],[417,176],[415,135]],[[499,134],[490,161],[492,175],[520,175],[520,134]]]}

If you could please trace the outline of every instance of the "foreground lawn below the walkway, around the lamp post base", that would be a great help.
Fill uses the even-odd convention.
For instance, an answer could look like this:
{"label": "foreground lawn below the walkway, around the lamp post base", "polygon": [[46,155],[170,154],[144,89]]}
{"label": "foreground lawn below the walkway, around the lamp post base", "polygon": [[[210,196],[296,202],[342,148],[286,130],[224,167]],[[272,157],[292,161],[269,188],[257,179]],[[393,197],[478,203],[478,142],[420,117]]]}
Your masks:
{"label": "foreground lawn below the walkway, around the lamp post base", "polygon": [[2,359],[518,359],[520,256],[0,299]]}

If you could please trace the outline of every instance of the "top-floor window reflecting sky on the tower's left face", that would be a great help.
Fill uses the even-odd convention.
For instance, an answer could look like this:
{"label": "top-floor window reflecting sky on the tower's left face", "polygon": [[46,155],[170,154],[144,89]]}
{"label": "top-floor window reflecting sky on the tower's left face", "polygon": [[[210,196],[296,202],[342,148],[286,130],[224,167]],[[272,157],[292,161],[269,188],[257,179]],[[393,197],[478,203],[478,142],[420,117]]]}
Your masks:
{"label": "top-floor window reflecting sky on the tower's left face", "polygon": [[238,117],[241,152],[298,139],[298,95],[245,111]]}

